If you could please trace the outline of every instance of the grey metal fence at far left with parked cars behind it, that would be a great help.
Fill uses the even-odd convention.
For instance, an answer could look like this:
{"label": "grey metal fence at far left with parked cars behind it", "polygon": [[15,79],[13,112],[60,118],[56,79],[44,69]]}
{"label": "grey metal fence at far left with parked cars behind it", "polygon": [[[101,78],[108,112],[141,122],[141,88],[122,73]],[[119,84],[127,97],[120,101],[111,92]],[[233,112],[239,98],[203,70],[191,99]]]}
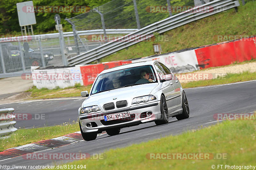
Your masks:
{"label": "grey metal fence at far left with parked cars behind it", "polygon": [[1,39],[0,59],[0,77],[30,72],[30,66],[62,66],[59,36]]}

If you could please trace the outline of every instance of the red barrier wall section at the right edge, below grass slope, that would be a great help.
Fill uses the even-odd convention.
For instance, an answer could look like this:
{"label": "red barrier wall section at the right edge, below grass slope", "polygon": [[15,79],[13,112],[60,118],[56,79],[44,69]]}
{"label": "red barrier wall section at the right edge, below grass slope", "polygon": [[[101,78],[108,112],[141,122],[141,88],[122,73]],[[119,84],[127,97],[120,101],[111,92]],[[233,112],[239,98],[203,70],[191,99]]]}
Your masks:
{"label": "red barrier wall section at the right edge, below grass slope", "polygon": [[200,69],[243,62],[256,58],[256,37],[198,48],[195,52]]}

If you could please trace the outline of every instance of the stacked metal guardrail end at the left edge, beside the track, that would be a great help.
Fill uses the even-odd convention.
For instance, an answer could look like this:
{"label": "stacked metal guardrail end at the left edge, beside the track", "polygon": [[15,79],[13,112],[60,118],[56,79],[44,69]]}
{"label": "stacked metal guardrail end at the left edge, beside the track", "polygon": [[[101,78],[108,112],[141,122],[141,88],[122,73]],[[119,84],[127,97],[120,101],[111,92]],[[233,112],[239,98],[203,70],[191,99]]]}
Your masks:
{"label": "stacked metal guardrail end at the left edge, beside the track", "polygon": [[13,121],[15,115],[12,115],[12,112],[14,112],[14,108],[0,109],[0,136],[8,135],[17,130],[14,127],[16,122]]}

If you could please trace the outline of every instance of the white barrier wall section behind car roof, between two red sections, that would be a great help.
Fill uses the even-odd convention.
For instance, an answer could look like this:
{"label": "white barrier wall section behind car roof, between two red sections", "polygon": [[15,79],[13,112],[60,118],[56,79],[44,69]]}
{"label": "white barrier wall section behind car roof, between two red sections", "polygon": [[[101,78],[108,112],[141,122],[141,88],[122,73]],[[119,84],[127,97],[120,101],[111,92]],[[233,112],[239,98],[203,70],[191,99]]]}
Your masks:
{"label": "white barrier wall section behind car roof, between two red sections", "polygon": [[153,57],[143,57],[132,60],[132,63],[156,60],[166,65],[174,73],[185,73],[200,70],[196,58],[195,50],[184,51],[181,53],[170,53]]}

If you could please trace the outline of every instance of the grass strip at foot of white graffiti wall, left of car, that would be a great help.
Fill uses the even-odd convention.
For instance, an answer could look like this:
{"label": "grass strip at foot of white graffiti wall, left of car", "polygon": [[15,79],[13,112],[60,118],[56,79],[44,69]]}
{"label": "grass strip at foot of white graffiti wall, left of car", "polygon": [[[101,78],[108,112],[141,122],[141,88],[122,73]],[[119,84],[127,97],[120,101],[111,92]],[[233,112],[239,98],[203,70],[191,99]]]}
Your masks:
{"label": "grass strip at foot of white graffiti wall, left of car", "polygon": [[60,98],[60,97],[77,97],[81,96],[80,92],[84,90],[90,91],[92,85],[82,86],[76,84],[74,87],[59,88],[55,89],[37,89],[36,86],[33,86],[27,92],[31,92],[31,99],[50,99],[50,98]]}

